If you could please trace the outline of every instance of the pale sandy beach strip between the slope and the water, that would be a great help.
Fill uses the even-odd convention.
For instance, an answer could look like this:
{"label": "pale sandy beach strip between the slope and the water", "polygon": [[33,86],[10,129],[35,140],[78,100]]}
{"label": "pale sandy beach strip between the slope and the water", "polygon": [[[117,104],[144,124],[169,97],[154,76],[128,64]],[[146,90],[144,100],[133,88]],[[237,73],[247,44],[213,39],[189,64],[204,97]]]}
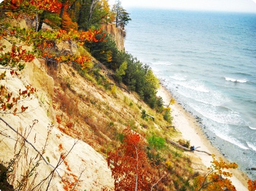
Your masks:
{"label": "pale sandy beach strip between the slope and the water", "polygon": [[[168,89],[166,89],[162,84],[160,85],[160,89],[158,89],[157,96],[162,97],[164,106],[168,105],[171,99],[171,93]],[[224,162],[229,162],[227,158],[225,158],[221,152],[214,147],[210,140],[206,138],[203,130],[201,129],[197,119],[190,114],[190,112],[183,109],[182,105],[175,102],[175,104],[170,105],[171,108],[171,116],[174,117],[172,120],[172,125],[181,132],[181,136],[185,140],[190,141],[190,145],[194,145],[195,147],[200,147],[200,150],[210,152],[215,154],[216,159],[221,157]],[[206,153],[202,152],[187,152],[192,160],[199,161],[199,163],[205,166],[205,169],[211,165],[212,157]],[[231,169],[229,170],[233,176],[229,178],[236,190],[245,190],[247,191],[247,181],[249,177],[245,174],[245,172],[240,169]]]}

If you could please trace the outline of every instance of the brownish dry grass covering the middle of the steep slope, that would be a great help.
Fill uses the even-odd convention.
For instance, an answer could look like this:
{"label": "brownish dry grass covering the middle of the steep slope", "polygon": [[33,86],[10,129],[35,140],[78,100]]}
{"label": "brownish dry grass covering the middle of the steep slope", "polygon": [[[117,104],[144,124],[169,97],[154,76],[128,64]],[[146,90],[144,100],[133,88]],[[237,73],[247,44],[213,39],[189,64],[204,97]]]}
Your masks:
{"label": "brownish dry grass covering the middle of the steep slope", "polygon": [[[71,67],[66,68],[51,73],[55,74],[52,75],[56,82],[53,104],[62,132],[87,142],[103,154],[116,150],[122,140],[122,130],[127,126],[146,136],[154,134],[166,139],[179,135],[174,129],[166,128],[170,124],[163,115],[141,102],[136,94],[128,94],[113,86],[105,90],[94,80],[82,79]],[[67,77],[67,73],[72,75]],[[151,117],[142,119],[142,110],[154,116],[154,121]],[[168,176],[159,184],[158,190],[193,190],[191,162],[180,150],[167,146],[151,154],[158,154],[159,164],[163,166],[166,161],[171,162]]]}

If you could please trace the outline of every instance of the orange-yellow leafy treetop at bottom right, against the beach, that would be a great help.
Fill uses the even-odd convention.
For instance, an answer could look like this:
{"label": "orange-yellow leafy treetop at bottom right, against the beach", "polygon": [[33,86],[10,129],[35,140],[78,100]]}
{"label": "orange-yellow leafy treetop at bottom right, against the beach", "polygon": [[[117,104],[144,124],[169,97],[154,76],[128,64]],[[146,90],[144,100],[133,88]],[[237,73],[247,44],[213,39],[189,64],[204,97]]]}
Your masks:
{"label": "orange-yellow leafy treetop at bottom right, against the beach", "polygon": [[216,160],[213,155],[212,165],[205,176],[197,176],[194,178],[194,187],[199,190],[222,191],[224,188],[230,191],[236,190],[228,177],[232,174],[227,169],[236,169],[236,163],[225,163],[222,158]]}

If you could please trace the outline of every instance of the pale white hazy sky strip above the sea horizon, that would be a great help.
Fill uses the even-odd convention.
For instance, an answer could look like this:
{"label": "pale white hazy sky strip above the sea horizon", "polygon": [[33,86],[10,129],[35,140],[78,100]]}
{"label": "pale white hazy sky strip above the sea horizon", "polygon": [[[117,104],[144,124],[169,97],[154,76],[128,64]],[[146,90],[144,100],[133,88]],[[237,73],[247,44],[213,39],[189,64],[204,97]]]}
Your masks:
{"label": "pale white hazy sky strip above the sea horizon", "polygon": [[[109,3],[115,0],[109,0]],[[163,9],[220,10],[256,13],[256,0],[121,0],[124,9],[147,7]]]}

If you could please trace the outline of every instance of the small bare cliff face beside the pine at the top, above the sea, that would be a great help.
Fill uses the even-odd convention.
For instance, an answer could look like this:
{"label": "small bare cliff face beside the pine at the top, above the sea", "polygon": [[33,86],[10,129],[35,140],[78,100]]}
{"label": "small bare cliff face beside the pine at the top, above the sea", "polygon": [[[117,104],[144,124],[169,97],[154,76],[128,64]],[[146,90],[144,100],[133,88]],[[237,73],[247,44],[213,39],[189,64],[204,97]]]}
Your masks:
{"label": "small bare cliff face beside the pine at the top, above the sea", "polygon": [[126,32],[120,28],[116,28],[113,24],[103,24],[102,28],[108,32],[111,37],[116,41],[116,46],[118,50],[124,49],[124,38],[126,37]]}

